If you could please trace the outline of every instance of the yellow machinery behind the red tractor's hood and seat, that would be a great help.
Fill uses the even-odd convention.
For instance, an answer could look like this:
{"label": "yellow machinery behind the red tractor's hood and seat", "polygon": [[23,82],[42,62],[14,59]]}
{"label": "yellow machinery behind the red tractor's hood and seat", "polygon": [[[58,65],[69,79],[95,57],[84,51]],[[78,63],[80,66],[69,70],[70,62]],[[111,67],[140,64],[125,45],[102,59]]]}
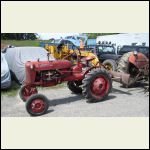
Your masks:
{"label": "yellow machinery behind the red tractor's hood and seat", "polygon": [[[76,59],[74,59],[73,57],[71,57],[71,54],[73,54],[74,52],[79,55],[79,51],[78,50],[73,50],[73,49],[69,49],[68,45],[62,45],[60,49],[58,49],[57,46],[55,45],[45,45],[45,49],[52,54],[56,59],[67,59],[70,61],[73,61],[74,64],[76,64]],[[92,57],[93,59],[91,60],[91,64],[92,66],[99,66],[99,59],[97,58],[97,56],[95,54],[93,54],[90,51],[85,51],[85,50],[81,50],[81,58],[84,57]]]}

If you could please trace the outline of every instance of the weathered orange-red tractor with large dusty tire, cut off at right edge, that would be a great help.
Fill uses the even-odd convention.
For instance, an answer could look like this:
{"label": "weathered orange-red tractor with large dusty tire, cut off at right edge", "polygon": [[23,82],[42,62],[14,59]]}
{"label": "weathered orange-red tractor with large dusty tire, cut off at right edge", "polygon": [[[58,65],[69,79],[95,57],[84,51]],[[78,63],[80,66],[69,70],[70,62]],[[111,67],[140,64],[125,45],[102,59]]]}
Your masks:
{"label": "weathered orange-red tractor with large dusty tire, cut off at right edge", "polygon": [[146,56],[137,51],[128,52],[119,60],[117,71],[109,73],[115,81],[122,83],[124,87],[132,87],[136,82],[141,81],[146,81],[149,84],[149,55]]}

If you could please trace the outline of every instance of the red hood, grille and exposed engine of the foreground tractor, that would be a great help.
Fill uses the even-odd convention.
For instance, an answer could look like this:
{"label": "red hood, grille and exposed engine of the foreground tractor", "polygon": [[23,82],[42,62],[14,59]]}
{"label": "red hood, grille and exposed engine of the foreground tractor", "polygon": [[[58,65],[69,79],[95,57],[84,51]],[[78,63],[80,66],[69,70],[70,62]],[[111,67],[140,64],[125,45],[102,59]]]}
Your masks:
{"label": "red hood, grille and exposed engine of the foreground tractor", "polygon": [[71,74],[71,62],[67,60],[26,62],[25,84],[58,84],[65,76]]}

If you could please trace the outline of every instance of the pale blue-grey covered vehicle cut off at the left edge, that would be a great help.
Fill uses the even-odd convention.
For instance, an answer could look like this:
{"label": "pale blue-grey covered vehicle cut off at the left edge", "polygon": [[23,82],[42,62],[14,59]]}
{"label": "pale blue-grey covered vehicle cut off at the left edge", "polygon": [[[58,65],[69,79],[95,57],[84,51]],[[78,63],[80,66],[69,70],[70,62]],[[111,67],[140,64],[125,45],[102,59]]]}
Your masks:
{"label": "pale blue-grey covered vehicle cut off at the left edge", "polygon": [[8,68],[5,54],[1,53],[1,89],[7,89],[11,86],[11,75]]}

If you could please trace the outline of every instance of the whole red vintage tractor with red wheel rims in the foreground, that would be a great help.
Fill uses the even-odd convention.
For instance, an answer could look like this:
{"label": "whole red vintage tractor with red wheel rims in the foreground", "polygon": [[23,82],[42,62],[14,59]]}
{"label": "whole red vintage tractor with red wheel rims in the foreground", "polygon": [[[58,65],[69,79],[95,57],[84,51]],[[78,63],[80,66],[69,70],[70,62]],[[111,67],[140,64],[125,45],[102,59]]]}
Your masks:
{"label": "whole red vintage tractor with red wheel rims in the foreground", "polygon": [[72,92],[82,93],[88,102],[105,99],[111,91],[112,80],[105,69],[88,66],[92,59],[94,58],[81,59],[77,54],[77,64],[73,65],[68,60],[50,61],[48,53],[47,61],[26,62],[26,79],[19,95],[26,102],[27,112],[31,116],[39,116],[49,108],[48,99],[38,94],[36,86],[48,87],[67,82]]}

